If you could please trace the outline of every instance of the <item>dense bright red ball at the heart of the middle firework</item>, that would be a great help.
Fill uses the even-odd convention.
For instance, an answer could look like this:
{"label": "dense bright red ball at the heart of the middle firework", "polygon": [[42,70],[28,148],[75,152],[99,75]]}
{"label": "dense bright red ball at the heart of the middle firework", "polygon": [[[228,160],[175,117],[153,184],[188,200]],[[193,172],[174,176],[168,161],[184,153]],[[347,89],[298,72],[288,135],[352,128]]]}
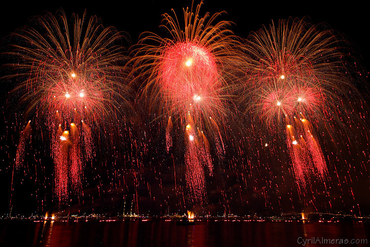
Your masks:
{"label": "dense bright red ball at the heart of the middle firework", "polygon": [[215,58],[195,43],[176,43],[164,50],[160,77],[163,92],[184,113],[193,106],[194,113],[220,105],[221,87]]}

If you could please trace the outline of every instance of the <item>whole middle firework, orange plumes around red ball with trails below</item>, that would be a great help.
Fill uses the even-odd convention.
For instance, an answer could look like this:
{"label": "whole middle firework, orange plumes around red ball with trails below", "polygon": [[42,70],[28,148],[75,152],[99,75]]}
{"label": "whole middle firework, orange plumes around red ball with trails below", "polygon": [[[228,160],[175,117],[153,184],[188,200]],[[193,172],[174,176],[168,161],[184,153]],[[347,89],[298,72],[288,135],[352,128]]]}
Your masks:
{"label": "whole middle firework, orange plumes around red ball with trails below", "polygon": [[[202,4],[203,1],[196,6],[195,12],[192,12],[193,6],[184,9],[185,29],[181,27],[175,11],[173,16],[164,14],[161,27],[171,36],[162,38],[144,33],[139,44],[133,48],[131,63],[135,72],[146,78],[140,87],[140,98],[146,103],[149,113],[166,118],[167,151],[174,144],[171,130],[175,129],[184,136],[185,126],[189,124],[194,131],[193,138],[212,140],[202,143],[217,146],[221,157],[225,147],[219,126],[223,126],[232,108],[230,92],[236,77],[231,72],[237,71],[241,64],[241,52],[237,49],[240,42],[228,29],[230,22],[216,21],[223,12],[212,16],[206,13],[201,17],[199,11]],[[198,129],[201,135],[195,131]],[[188,140],[185,143],[189,143]],[[185,158],[186,167],[204,169],[199,166],[201,157],[194,156],[197,153],[208,157],[208,167],[212,169],[208,149],[204,144],[196,148],[193,145],[186,145],[185,156],[192,157]],[[203,151],[195,152],[195,149]],[[188,184],[194,191],[204,191],[201,188],[205,186],[203,178],[186,174]],[[199,177],[203,176],[199,173]],[[201,197],[200,193],[197,195],[196,198]]]}

